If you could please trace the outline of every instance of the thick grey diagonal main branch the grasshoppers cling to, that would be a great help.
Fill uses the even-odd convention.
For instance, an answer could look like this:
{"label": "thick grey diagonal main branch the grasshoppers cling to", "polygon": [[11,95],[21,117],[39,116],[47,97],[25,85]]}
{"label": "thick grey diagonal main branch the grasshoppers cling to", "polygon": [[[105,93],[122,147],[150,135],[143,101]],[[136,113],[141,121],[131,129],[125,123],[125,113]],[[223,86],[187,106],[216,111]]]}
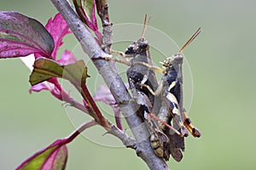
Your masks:
{"label": "thick grey diagonal main branch the grasshoppers cling to", "polygon": [[[143,126],[142,120],[137,116],[137,105],[131,102],[131,96],[125,88],[125,84],[119,77],[116,68],[111,65],[111,62],[103,60],[102,57],[111,57],[102,51],[102,48],[97,44],[94,37],[91,36],[90,31],[84,26],[79,16],[75,13],[72,6],[67,0],[51,0],[55,8],[61,13],[64,20],[67,21],[73,34],[80,42],[84,52],[93,59],[96,68],[102,75],[108,88],[113,94],[114,99],[119,104],[119,107],[125,116],[125,120],[131,127],[131,131],[137,139],[137,155],[143,158],[152,170],[169,169],[166,162],[158,156],[155,156],[154,151],[150,146],[148,130]],[[113,131],[114,132],[114,131]],[[113,135],[116,135],[113,133]]]}

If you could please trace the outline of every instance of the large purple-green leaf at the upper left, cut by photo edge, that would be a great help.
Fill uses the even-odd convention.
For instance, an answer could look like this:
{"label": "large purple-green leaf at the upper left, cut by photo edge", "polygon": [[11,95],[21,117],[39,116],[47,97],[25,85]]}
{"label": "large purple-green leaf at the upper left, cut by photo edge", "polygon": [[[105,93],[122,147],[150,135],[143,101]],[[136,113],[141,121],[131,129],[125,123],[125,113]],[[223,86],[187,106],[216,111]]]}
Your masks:
{"label": "large purple-green leaf at the upper left, cut by photo edge", "polygon": [[44,26],[17,12],[0,12],[0,58],[38,53],[49,57],[54,40]]}

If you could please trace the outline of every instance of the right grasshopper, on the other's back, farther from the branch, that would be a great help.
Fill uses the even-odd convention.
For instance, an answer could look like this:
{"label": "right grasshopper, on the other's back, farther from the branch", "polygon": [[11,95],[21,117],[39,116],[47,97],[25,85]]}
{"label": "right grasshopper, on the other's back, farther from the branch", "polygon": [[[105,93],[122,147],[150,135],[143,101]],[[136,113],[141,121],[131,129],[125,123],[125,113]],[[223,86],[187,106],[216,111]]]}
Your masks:
{"label": "right grasshopper, on the other's back, farther from the branch", "polygon": [[[158,117],[160,120],[170,125],[173,119],[172,127],[178,130],[178,132],[176,132],[173,131],[172,128],[166,129],[166,123],[160,121],[159,127],[168,136],[169,141],[160,145],[156,144],[155,147],[157,148],[159,146],[161,153],[163,154],[162,156],[166,160],[169,159],[170,154],[176,161],[180,161],[182,159],[182,153],[180,150],[184,150],[184,137],[188,136],[188,130],[189,133],[191,133],[194,137],[199,138],[201,136],[201,132],[194,127],[189,119],[189,116],[186,114],[185,109],[183,108],[182,73],[182,51],[195,39],[195,37],[197,37],[200,32],[201,28],[195,31],[193,36],[189,38],[189,41],[183,45],[177,54],[165,59],[165,61],[162,63],[165,70],[143,62],[134,63],[135,65],[148,66],[148,68],[151,68],[154,71],[160,71],[164,74],[158,88],[155,91],[147,84],[139,83],[138,85],[143,88],[148,88],[148,91],[155,96],[159,96],[161,94],[160,96],[162,96],[162,102]],[[175,146],[172,145],[173,142],[175,143]]]}

